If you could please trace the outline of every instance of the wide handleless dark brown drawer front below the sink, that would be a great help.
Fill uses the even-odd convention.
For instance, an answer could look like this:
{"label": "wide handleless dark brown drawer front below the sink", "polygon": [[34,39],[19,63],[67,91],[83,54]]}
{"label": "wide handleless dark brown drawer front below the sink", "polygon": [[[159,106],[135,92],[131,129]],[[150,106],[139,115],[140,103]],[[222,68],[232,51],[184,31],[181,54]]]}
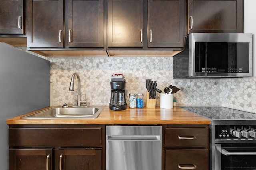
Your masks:
{"label": "wide handleless dark brown drawer front below the sink", "polygon": [[14,128],[9,146],[100,146],[101,128]]}

